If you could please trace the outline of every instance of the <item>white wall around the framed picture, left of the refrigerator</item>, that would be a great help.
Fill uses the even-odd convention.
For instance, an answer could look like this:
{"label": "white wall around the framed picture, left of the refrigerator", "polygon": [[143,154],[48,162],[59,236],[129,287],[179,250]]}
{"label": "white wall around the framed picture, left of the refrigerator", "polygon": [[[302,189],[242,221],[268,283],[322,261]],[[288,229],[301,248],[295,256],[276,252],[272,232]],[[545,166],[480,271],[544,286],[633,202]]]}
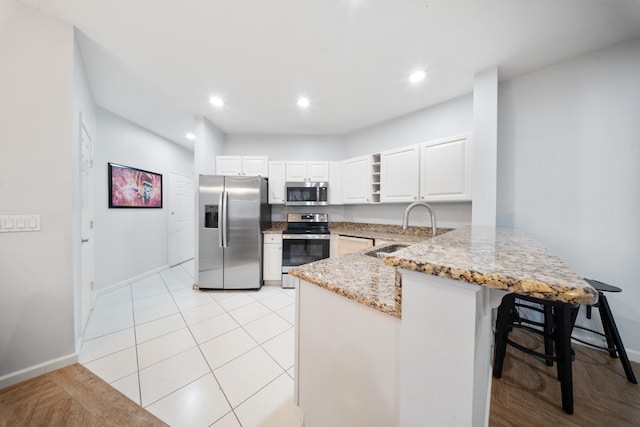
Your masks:
{"label": "white wall around the framed picture, left of the refrigerator", "polygon": [[[169,172],[193,175],[193,152],[104,109],[94,144],[95,288],[168,267]],[[162,209],[109,209],[107,163],[163,175]]]}

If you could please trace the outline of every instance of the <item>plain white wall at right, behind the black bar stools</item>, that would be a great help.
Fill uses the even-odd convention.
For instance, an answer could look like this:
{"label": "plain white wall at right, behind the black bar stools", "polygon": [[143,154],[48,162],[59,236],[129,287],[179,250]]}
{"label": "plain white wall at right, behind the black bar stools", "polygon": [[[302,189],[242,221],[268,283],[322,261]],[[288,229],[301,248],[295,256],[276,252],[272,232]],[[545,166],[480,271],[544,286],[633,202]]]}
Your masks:
{"label": "plain white wall at right, behind the black bar stools", "polygon": [[640,361],[640,39],[500,85],[498,224],[609,294]]}

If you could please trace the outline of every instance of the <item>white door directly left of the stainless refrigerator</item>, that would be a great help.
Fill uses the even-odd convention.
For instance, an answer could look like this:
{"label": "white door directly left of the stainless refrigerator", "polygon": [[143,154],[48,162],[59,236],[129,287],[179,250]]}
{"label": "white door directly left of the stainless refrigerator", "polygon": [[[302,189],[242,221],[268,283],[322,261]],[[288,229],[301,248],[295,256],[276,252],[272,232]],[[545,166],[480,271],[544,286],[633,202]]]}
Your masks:
{"label": "white door directly left of the stainless refrigerator", "polygon": [[194,256],[193,177],[171,172],[170,183],[170,264],[183,263]]}

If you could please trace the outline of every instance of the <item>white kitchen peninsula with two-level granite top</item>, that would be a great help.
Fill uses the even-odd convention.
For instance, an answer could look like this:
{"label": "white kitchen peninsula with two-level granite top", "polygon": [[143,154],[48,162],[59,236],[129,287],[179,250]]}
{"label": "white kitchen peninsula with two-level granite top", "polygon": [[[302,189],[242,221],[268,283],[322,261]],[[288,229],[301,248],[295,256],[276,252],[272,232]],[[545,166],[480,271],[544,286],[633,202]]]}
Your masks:
{"label": "white kitchen peninsula with two-level granite top", "polygon": [[[384,249],[384,248],[380,248]],[[597,293],[516,229],[464,227],[389,254],[296,268],[296,392],[305,425],[488,421],[492,317],[506,292]]]}

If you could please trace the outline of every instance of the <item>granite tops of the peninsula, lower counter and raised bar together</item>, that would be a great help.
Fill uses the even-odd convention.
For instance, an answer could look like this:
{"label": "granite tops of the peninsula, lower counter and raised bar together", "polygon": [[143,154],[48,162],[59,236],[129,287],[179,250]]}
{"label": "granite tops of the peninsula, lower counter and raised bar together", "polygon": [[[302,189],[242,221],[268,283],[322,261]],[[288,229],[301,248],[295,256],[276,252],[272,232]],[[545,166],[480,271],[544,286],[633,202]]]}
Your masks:
{"label": "granite tops of the peninsula, lower counter and raised bar together", "polygon": [[397,318],[402,297],[396,267],[564,303],[593,304],[598,299],[578,274],[518,229],[463,227],[384,260],[365,255],[371,250],[302,265],[289,274]]}

